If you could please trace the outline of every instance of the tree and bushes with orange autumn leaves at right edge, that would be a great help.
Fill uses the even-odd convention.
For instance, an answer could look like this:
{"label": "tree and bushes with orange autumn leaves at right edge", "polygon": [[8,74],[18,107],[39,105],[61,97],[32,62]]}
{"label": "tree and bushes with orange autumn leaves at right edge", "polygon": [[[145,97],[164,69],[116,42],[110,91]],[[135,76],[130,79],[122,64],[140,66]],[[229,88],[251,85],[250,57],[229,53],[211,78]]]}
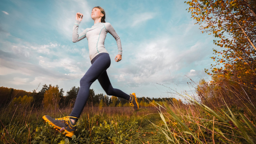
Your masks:
{"label": "tree and bushes with orange autumn leaves at right edge", "polygon": [[[191,0],[188,11],[202,33],[213,34],[214,61],[197,93],[202,102],[256,103],[256,1]],[[241,104],[241,103],[240,103]]]}

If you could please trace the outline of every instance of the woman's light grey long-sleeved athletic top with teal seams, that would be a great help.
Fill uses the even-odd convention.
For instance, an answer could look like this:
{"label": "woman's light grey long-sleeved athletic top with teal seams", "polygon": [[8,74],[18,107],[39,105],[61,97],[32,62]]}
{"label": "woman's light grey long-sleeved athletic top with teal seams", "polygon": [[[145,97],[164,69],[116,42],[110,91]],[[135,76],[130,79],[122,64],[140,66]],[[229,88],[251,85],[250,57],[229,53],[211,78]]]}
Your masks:
{"label": "woman's light grey long-sleeved athletic top with teal seams", "polygon": [[85,37],[88,40],[90,60],[96,57],[99,53],[107,52],[104,46],[104,41],[107,32],[110,33],[117,41],[118,54],[122,55],[122,45],[120,37],[117,35],[110,23],[96,23],[91,28],[86,28],[82,33],[78,34],[80,21],[76,20],[73,26],[72,41],[77,42]]}

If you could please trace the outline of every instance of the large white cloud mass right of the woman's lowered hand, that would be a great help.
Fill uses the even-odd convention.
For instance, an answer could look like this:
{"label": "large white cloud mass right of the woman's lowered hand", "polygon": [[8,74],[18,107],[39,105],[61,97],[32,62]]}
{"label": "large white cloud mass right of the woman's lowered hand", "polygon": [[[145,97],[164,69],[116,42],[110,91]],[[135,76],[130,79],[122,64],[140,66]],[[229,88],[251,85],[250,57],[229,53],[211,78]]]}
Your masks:
{"label": "large white cloud mass right of the woman's lowered hand", "polygon": [[204,61],[209,52],[206,51],[207,42],[198,41],[188,47],[184,39],[187,37],[182,35],[156,35],[153,40],[148,39],[127,46],[133,47],[129,51],[130,64],[126,68],[119,68],[119,73],[114,77],[118,81],[135,86],[156,82],[186,84],[188,79],[185,75],[198,74],[191,68]]}

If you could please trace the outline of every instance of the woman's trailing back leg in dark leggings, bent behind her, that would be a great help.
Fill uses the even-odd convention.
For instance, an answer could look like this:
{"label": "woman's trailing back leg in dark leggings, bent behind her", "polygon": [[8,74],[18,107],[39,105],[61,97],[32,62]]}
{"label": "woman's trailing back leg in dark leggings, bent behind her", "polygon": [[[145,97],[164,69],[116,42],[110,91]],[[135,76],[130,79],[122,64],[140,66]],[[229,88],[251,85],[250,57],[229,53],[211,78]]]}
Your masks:
{"label": "woman's trailing back leg in dark leggings, bent behind her", "polygon": [[119,98],[123,98],[129,101],[130,96],[127,95],[126,93],[124,93],[123,91],[121,91],[120,89],[116,89],[113,88],[110,80],[107,76],[107,72],[104,71],[98,78],[100,85],[102,86],[102,88],[104,89],[104,91],[107,93],[107,95],[109,96],[116,96]]}

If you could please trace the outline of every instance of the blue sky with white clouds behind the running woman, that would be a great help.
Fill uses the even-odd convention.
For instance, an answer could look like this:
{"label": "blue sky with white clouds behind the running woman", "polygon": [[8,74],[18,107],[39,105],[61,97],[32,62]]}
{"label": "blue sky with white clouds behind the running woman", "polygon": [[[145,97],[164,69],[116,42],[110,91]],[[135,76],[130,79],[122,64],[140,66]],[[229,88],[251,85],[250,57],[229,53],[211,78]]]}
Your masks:
{"label": "blue sky with white clouds behind the running woman", "polygon": [[[137,97],[175,97],[171,89],[196,95],[188,84],[210,80],[204,69],[213,64],[213,36],[202,34],[183,0],[1,0],[0,86],[40,91],[52,84],[66,93],[91,66],[88,41],[72,42],[76,12],[84,17],[78,33],[94,21],[91,10],[101,6],[121,38],[123,55],[113,36],[105,39],[114,88]],[[192,81],[193,82],[192,82]],[[194,85],[195,86],[195,85]],[[90,87],[106,94],[96,80]]]}

